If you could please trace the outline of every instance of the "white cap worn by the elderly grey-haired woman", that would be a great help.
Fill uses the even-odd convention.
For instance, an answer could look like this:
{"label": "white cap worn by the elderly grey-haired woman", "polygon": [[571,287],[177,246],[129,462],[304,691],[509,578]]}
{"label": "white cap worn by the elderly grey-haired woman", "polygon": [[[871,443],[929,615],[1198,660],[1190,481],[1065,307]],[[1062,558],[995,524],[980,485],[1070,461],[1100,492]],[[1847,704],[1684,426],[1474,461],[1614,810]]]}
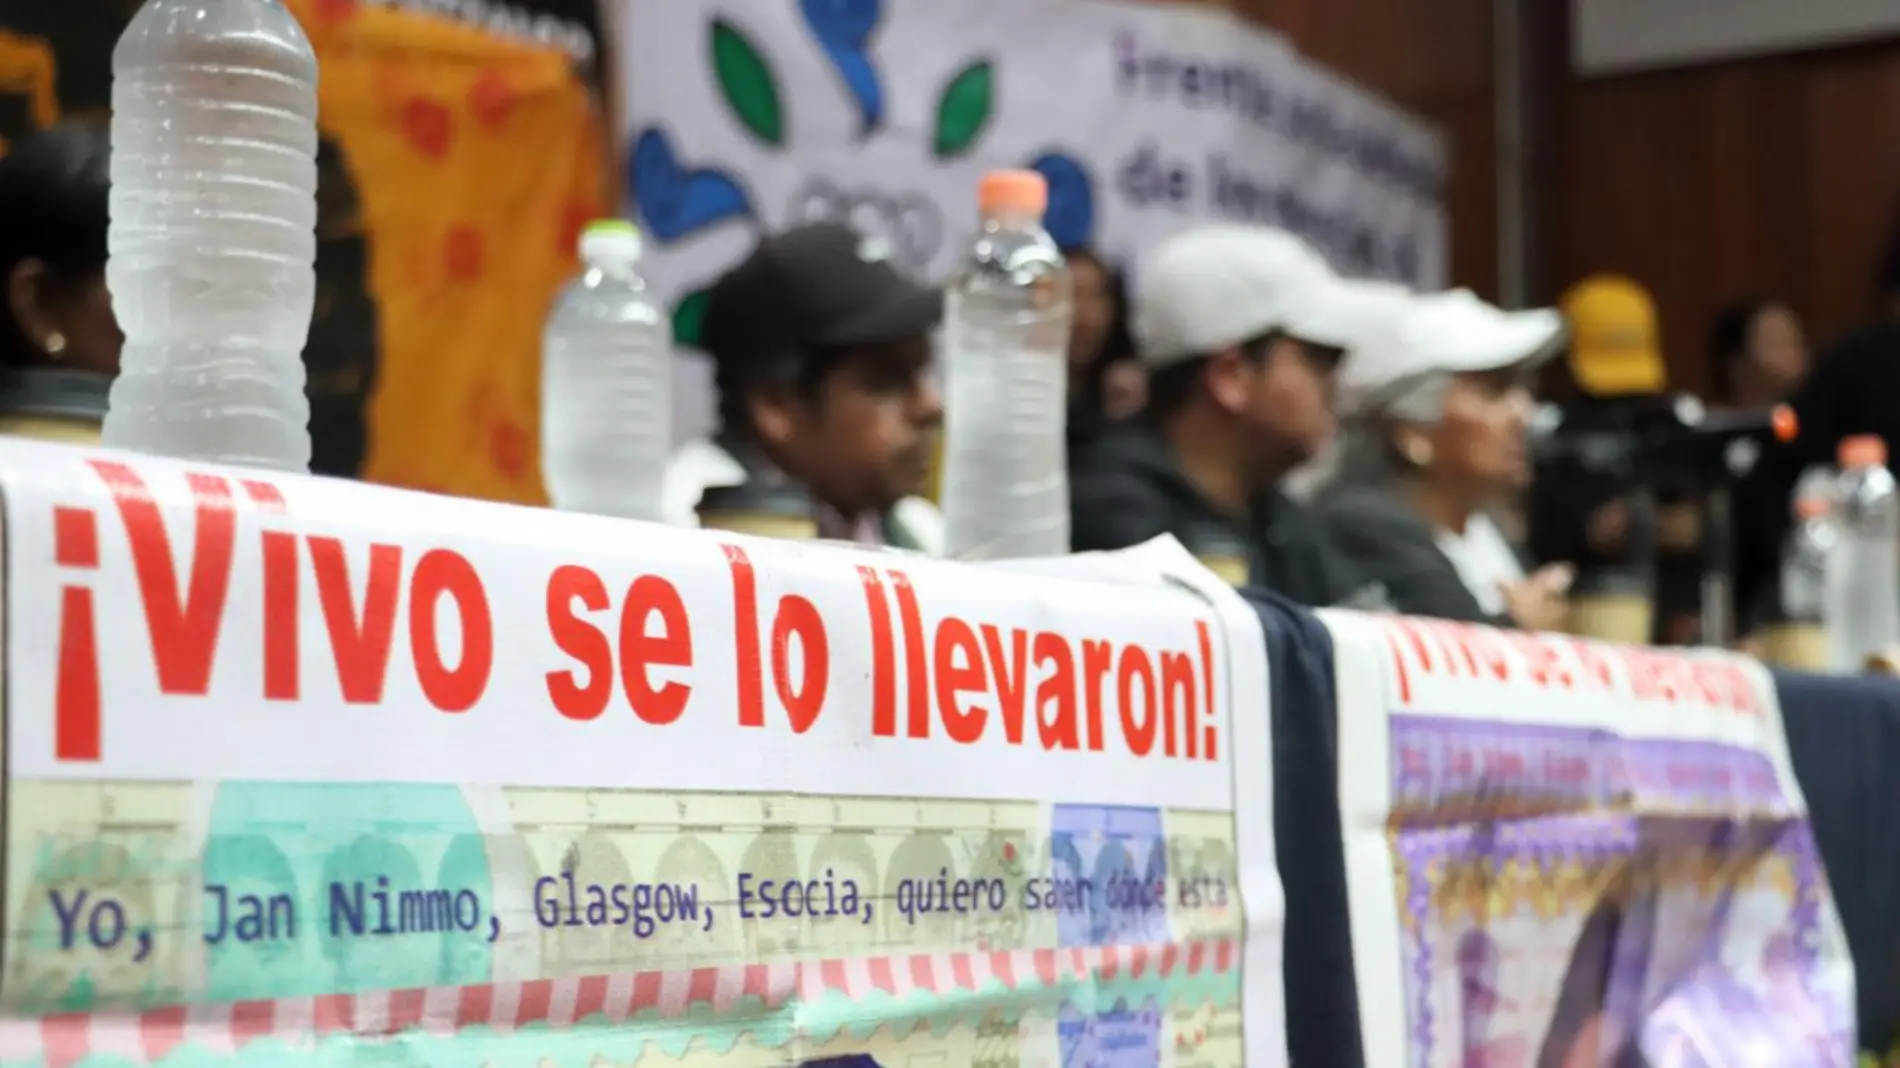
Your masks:
{"label": "white cap worn by the elderly grey-haired woman", "polygon": [[1469,289],[1412,296],[1349,344],[1340,403],[1362,412],[1425,374],[1539,365],[1562,350],[1564,336],[1564,317],[1552,308],[1505,312]]}

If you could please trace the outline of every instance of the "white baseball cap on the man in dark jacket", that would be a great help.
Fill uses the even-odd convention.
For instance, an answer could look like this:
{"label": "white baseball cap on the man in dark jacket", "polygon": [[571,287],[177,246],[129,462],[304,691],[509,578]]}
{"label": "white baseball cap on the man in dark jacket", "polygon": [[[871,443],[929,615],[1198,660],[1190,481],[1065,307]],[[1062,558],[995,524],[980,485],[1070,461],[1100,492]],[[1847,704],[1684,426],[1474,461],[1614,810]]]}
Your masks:
{"label": "white baseball cap on the man in dark jacket", "polygon": [[1303,241],[1214,224],[1168,238],[1142,262],[1130,329],[1142,363],[1167,367],[1275,331],[1343,348],[1351,319],[1340,277]]}

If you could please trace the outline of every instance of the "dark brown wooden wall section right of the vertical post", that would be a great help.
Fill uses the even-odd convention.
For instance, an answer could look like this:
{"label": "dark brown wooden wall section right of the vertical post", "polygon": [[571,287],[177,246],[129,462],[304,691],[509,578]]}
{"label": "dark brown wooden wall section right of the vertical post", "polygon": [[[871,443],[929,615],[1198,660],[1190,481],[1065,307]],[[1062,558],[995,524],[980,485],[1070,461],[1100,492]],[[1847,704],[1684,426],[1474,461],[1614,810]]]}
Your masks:
{"label": "dark brown wooden wall section right of the vertical post", "polygon": [[1710,323],[1733,300],[1788,300],[1820,340],[1872,315],[1900,207],[1900,42],[1602,80],[1558,70],[1535,131],[1539,296],[1598,270],[1642,281],[1689,390],[1710,384]]}

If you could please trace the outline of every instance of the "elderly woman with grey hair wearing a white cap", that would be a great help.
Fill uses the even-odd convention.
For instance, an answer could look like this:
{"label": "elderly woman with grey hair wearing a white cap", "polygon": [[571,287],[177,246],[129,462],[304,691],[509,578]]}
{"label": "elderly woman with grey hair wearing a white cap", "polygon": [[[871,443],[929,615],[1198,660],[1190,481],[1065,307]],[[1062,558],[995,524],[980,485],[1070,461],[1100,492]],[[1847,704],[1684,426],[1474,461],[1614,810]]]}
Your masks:
{"label": "elderly woman with grey hair wearing a white cap", "polygon": [[1530,483],[1531,376],[1562,344],[1556,312],[1503,312],[1459,289],[1393,306],[1349,348],[1338,475],[1319,513],[1395,610],[1564,623],[1569,568],[1526,576],[1492,519]]}

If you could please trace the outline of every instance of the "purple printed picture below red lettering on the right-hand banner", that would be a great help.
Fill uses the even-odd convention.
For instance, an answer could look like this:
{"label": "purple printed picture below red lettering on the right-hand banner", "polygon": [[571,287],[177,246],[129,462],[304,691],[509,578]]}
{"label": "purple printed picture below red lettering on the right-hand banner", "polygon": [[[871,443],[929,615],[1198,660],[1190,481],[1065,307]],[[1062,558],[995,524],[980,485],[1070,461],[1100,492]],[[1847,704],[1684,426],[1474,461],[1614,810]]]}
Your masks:
{"label": "purple printed picture below red lettering on the right-hand banner", "polygon": [[1410,1064],[1851,1062],[1813,834],[1763,753],[1389,724]]}

